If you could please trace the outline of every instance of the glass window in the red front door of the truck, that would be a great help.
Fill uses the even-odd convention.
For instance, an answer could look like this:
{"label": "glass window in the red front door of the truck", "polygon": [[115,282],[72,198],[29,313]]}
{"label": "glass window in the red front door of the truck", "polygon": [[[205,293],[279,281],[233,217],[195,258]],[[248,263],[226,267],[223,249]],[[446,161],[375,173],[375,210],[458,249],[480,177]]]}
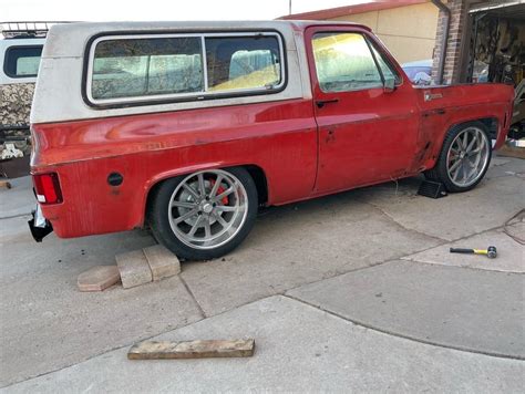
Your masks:
{"label": "glass window in the red front door of the truck", "polygon": [[370,48],[359,33],[317,33],[312,39],[317,77],[322,92],[381,87]]}

